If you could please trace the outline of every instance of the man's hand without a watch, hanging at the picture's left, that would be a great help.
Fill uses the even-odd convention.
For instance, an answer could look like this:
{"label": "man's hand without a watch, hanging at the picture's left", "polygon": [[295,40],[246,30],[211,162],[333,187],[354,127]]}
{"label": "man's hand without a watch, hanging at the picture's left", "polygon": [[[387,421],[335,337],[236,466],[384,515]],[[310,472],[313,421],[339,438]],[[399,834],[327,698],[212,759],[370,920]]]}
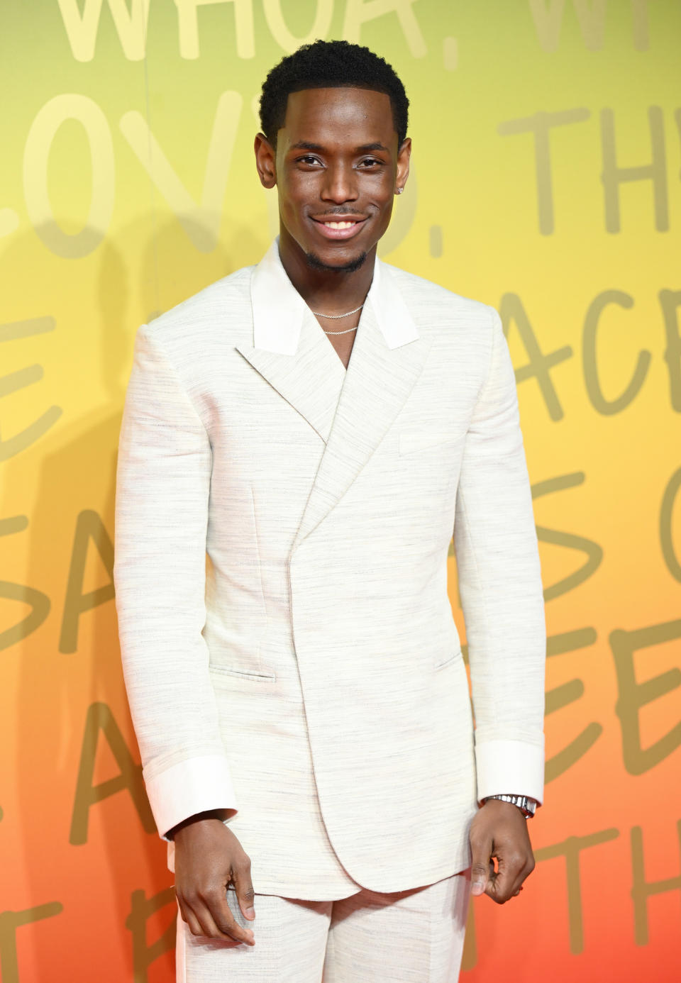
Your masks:
{"label": "man's hand without a watch, hanging at the picture's left", "polygon": [[255,918],[251,859],[215,813],[199,813],[169,834],[175,841],[175,894],[193,935],[228,945],[255,946],[253,931],[242,928],[227,903],[233,884],[245,918]]}

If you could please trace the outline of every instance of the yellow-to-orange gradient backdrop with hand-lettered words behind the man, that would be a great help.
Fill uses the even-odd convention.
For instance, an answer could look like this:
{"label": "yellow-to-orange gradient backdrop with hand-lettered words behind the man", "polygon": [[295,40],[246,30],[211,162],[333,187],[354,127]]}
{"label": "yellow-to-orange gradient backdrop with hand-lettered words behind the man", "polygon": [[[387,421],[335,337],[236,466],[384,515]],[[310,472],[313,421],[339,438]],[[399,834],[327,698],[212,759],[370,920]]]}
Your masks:
{"label": "yellow-to-orange gradient backdrop with hand-lettered words behind the man", "polygon": [[137,326],[276,232],[255,99],[315,36],[387,57],[412,101],[382,257],[496,306],[517,372],[546,797],[537,870],[476,900],[463,979],[678,980],[679,5],[5,0],[2,983],[173,979],[116,638],[120,414]]}

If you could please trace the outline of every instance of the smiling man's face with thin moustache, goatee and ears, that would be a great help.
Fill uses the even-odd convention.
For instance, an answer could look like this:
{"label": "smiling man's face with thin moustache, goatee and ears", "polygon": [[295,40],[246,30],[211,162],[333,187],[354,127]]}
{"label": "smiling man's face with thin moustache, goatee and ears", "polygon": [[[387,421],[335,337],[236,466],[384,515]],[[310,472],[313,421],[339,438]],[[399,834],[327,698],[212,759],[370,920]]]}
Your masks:
{"label": "smiling man's face with thin moustache, goatee and ears", "polygon": [[[411,142],[397,145],[390,98],[365,88],[308,88],[289,95],[277,135],[281,245],[308,263],[357,268],[388,227],[397,187],[409,174]],[[271,157],[271,150],[270,150]],[[294,247],[295,248],[295,247]]]}

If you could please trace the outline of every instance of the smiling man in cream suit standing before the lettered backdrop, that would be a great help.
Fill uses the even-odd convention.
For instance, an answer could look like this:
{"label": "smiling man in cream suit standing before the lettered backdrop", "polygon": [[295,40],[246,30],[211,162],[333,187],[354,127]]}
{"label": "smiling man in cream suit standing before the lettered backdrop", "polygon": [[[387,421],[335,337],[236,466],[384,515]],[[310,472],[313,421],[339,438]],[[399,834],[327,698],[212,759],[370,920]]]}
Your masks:
{"label": "smiling man in cream suit standing before the lettered backdrop", "polygon": [[376,260],[411,152],[390,66],[317,41],[260,110],[279,237],[140,328],[120,439],[121,649],[178,979],[443,983],[471,883],[504,902],[534,867],[513,368],[492,308]]}

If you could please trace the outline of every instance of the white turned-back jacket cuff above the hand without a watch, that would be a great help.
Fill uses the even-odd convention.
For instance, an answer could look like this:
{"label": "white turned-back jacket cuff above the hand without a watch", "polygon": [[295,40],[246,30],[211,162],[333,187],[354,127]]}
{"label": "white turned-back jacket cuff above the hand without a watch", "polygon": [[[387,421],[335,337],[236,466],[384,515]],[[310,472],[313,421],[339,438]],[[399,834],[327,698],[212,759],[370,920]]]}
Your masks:
{"label": "white turned-back jacket cuff above the hand without a watch", "polygon": [[161,839],[190,816],[208,809],[237,810],[227,759],[220,754],[188,758],[152,779],[144,779],[146,795]]}

